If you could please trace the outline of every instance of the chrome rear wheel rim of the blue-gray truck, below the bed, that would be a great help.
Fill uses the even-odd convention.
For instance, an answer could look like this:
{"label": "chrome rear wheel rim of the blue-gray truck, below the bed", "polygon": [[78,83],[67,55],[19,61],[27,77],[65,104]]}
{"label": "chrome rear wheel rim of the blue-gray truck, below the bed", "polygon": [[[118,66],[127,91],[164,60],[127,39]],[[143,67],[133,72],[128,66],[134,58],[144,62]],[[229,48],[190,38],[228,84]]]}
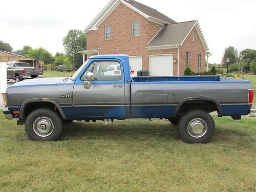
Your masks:
{"label": "chrome rear wheel rim of the blue-gray truck, below the bed", "polygon": [[187,125],[187,132],[194,138],[203,137],[207,132],[207,123],[200,118],[192,119]]}

